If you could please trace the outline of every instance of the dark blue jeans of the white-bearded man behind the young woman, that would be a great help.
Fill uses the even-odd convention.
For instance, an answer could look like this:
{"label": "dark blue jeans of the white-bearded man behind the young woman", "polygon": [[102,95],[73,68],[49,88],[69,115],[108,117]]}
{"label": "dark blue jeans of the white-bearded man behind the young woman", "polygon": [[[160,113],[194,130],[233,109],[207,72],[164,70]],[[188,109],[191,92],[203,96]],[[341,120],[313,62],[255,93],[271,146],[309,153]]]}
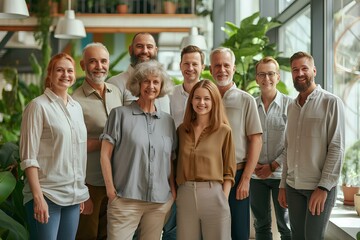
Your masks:
{"label": "dark blue jeans of the white-bearded man behind the young woman", "polygon": [[236,171],[235,184],[229,195],[232,240],[249,240],[250,236],[250,196],[243,200],[236,200],[236,188],[243,171],[243,169]]}

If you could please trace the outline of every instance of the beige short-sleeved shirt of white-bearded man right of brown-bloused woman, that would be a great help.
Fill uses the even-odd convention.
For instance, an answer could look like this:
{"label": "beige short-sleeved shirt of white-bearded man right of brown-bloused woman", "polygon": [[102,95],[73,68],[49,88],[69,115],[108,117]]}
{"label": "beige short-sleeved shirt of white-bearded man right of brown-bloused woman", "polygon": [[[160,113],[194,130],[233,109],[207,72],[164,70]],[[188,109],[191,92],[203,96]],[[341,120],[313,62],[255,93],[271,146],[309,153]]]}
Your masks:
{"label": "beige short-sleeved shirt of white-bearded man right of brown-bloused woman", "polygon": [[223,103],[234,137],[236,163],[246,162],[247,136],[262,133],[255,99],[233,84],[225,92]]}

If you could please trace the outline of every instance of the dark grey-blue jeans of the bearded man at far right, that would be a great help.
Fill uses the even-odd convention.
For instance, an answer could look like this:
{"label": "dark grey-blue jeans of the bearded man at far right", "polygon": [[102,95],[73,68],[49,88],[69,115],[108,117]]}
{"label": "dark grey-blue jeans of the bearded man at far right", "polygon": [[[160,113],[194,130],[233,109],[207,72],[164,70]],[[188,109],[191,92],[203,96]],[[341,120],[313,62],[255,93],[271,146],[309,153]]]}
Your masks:
{"label": "dark grey-blue jeans of the bearded man at far right", "polygon": [[308,202],[314,190],[297,190],[286,185],[286,200],[289,208],[291,234],[293,240],[324,239],[326,226],[331,210],[335,204],[336,187],[328,193],[324,211],[320,215],[312,215]]}

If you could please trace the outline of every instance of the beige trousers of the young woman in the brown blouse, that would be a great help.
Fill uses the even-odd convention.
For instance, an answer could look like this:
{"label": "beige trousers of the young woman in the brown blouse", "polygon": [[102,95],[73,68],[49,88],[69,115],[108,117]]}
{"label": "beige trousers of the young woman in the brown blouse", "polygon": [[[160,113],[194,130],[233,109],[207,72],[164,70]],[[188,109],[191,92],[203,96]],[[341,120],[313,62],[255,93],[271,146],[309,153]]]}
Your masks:
{"label": "beige trousers of the young woman in the brown blouse", "polygon": [[219,182],[186,182],[176,198],[177,240],[230,240],[231,215]]}

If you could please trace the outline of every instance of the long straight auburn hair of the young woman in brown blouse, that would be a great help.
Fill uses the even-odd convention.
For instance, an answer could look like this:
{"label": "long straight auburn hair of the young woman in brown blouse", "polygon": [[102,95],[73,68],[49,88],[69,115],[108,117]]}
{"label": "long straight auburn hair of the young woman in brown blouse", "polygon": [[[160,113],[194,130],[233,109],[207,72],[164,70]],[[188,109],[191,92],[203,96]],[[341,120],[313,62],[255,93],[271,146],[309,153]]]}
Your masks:
{"label": "long straight auburn hair of the young woman in brown blouse", "polygon": [[197,114],[192,106],[192,99],[194,98],[195,90],[198,88],[207,89],[211,96],[212,107],[210,111],[210,132],[216,131],[222,123],[229,125],[219,89],[212,81],[204,79],[196,83],[189,94],[183,120],[185,130],[190,132],[191,123],[196,120]]}

